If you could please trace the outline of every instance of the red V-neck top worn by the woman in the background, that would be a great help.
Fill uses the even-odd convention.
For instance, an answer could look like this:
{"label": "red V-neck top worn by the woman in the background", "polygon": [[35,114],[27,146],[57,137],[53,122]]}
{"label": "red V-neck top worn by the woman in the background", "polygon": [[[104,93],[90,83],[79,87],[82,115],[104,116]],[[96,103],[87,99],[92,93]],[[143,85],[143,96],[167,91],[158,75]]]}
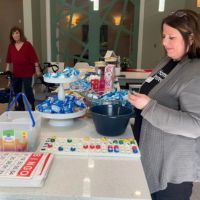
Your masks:
{"label": "red V-neck top worn by the woman in the background", "polygon": [[16,49],[15,44],[9,44],[6,62],[13,64],[15,77],[32,77],[35,73],[34,63],[38,62],[38,57],[31,43],[25,41],[19,50]]}

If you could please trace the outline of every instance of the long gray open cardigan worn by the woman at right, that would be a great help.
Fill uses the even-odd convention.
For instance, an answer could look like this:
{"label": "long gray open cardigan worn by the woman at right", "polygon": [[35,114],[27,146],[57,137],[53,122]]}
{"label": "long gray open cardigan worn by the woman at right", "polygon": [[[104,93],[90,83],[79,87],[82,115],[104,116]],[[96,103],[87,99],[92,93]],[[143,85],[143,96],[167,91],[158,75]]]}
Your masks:
{"label": "long gray open cardigan worn by the woman at right", "polygon": [[149,96],[140,150],[150,192],[167,183],[200,181],[200,59],[183,59]]}

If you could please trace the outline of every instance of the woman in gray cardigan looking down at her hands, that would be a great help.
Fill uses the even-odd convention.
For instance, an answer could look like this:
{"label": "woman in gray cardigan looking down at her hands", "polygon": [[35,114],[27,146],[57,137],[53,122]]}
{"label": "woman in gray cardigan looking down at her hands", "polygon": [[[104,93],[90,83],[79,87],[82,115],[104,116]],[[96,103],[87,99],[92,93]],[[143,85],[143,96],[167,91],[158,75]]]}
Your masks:
{"label": "woman in gray cardigan looking down at her hands", "polygon": [[128,95],[134,134],[153,200],[189,200],[200,181],[200,19],[178,10],[163,19],[167,58]]}

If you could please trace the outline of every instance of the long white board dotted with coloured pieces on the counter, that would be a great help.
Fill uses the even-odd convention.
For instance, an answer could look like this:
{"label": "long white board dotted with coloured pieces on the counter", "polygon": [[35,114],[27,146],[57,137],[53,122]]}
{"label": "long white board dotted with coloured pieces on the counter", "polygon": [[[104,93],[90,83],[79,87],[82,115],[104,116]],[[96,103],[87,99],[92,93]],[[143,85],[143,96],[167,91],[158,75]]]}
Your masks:
{"label": "long white board dotted with coloured pieces on the counter", "polygon": [[66,156],[140,157],[138,145],[133,138],[48,137],[38,150]]}

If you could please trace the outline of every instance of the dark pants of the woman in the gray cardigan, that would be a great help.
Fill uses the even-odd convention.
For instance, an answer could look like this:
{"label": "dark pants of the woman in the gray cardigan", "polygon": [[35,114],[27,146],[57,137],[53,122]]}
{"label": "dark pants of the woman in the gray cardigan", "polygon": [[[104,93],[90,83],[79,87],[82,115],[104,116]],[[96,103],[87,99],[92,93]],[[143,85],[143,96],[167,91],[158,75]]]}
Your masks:
{"label": "dark pants of the woman in the gray cardigan", "polygon": [[192,182],[184,182],[181,184],[168,183],[165,190],[155,192],[151,197],[152,200],[190,200],[192,187]]}

